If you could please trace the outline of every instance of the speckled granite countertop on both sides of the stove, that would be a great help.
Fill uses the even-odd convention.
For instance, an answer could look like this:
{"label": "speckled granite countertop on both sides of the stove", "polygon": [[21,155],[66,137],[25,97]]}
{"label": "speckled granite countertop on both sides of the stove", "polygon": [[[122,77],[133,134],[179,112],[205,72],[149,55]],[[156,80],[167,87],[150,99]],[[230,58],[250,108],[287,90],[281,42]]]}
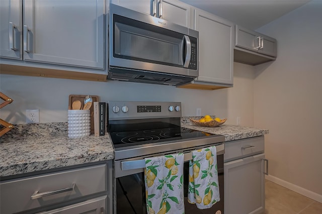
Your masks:
{"label": "speckled granite countertop on both sides of the stove", "polygon": [[[199,127],[193,125],[189,117],[182,118],[182,127],[224,135],[225,141],[269,133],[265,129],[225,124],[214,128]],[[84,138],[68,138],[67,122],[17,125],[1,137],[0,177],[113,158],[114,148],[108,134],[100,137],[91,135]]]}

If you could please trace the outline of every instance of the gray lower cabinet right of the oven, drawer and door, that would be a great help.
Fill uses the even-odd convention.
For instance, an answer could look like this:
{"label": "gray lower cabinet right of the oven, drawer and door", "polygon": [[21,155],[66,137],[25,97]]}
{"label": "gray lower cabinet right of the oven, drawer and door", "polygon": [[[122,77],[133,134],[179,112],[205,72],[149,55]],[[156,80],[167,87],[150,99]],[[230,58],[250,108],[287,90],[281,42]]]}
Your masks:
{"label": "gray lower cabinet right of the oven, drawer and door", "polygon": [[225,143],[224,212],[255,214],[265,211],[264,137]]}

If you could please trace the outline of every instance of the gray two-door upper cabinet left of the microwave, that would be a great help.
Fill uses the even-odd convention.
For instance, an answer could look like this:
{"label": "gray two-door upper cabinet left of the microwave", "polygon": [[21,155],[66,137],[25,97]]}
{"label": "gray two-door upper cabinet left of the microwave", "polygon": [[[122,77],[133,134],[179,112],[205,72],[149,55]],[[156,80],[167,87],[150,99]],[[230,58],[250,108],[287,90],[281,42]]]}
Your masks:
{"label": "gray two-door upper cabinet left of the microwave", "polygon": [[104,0],[2,1],[1,28],[2,57],[105,68]]}

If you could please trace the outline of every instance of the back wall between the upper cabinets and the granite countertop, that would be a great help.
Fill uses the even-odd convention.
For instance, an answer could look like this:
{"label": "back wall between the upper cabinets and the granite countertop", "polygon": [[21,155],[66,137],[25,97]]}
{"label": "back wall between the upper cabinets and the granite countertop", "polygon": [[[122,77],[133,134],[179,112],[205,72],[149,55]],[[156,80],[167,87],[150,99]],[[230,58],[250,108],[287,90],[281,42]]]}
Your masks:
{"label": "back wall between the upper cabinets and the granite countertop", "polygon": [[234,87],[195,90],[174,86],[129,82],[93,82],[0,74],[1,92],[14,101],[1,109],[1,118],[13,124],[25,123],[26,109],[40,110],[40,123],[67,121],[69,94],[98,95],[101,101],[181,101],[183,116],[202,114],[228,118],[227,124],[254,126],[254,68],[234,63]]}

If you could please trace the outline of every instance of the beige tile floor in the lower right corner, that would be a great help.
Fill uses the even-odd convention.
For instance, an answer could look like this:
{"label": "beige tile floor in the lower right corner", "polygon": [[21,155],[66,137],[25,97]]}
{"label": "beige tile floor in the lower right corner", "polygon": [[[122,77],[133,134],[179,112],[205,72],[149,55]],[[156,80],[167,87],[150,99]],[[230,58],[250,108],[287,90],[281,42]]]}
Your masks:
{"label": "beige tile floor in the lower right corner", "polygon": [[322,203],[265,181],[265,214],[321,214]]}

